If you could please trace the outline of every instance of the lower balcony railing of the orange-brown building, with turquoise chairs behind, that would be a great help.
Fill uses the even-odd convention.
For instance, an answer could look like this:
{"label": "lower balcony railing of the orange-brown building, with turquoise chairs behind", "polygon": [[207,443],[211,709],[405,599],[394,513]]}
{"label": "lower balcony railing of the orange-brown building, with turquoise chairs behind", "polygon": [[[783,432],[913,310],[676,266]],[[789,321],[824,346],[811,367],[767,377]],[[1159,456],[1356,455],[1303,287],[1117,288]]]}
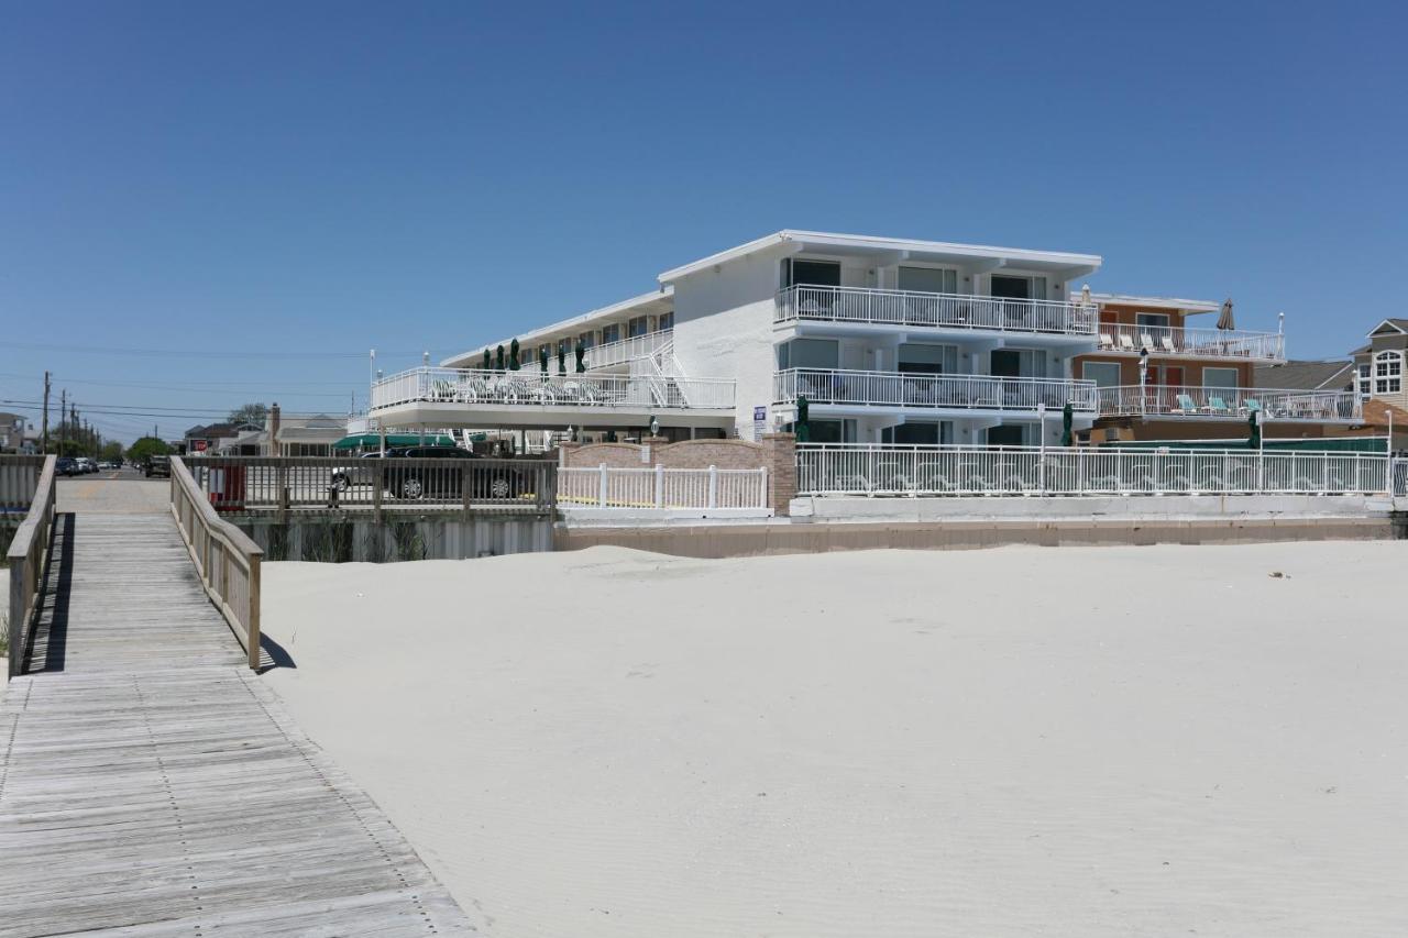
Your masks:
{"label": "lower balcony railing of the orange-brown building, with turquoise chairs behind", "polygon": [[1204,417],[1243,418],[1266,411],[1263,420],[1356,421],[1359,396],[1353,392],[1277,390],[1267,387],[1181,387],[1138,384],[1101,387],[1101,417]]}

